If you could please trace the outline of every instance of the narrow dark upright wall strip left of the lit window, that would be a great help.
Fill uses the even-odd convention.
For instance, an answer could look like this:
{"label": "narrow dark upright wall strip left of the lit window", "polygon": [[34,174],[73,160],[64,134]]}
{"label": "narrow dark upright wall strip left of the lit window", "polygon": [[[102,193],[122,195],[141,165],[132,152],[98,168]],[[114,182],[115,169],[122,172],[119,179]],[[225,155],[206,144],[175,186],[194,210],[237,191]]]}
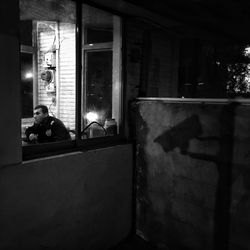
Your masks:
{"label": "narrow dark upright wall strip left of the lit window", "polygon": [[0,166],[21,161],[18,16],[17,0],[0,3]]}

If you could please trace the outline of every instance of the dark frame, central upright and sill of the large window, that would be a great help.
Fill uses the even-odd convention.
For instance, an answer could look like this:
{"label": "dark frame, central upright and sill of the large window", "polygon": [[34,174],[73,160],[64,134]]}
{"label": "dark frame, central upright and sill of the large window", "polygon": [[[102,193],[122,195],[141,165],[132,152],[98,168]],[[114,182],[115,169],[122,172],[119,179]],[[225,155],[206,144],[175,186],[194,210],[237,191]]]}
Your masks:
{"label": "dark frame, central upright and sill of the large window", "polygon": [[[83,50],[86,49],[93,49],[93,46],[89,45],[83,45],[82,41],[82,2],[81,1],[74,1],[76,4],[76,26],[75,26],[75,56],[76,56],[76,68],[75,68],[75,76],[76,76],[76,102],[75,102],[75,107],[76,107],[76,112],[75,112],[75,139],[72,141],[62,141],[62,142],[53,142],[53,143],[41,143],[41,144],[30,144],[30,145],[25,145],[22,146],[22,159],[23,161],[26,160],[31,160],[31,159],[36,159],[36,158],[41,158],[41,157],[47,157],[47,156],[54,156],[54,155],[59,155],[63,153],[68,153],[68,152],[75,152],[75,151],[82,151],[82,150],[89,150],[89,149],[97,149],[97,148],[104,148],[104,147],[109,147],[113,145],[118,145],[118,144],[123,144],[127,142],[127,139],[124,134],[124,117],[123,117],[123,109],[124,109],[124,92],[122,89],[123,86],[123,59],[124,59],[124,47],[123,47],[123,20],[122,20],[122,15],[120,13],[114,13],[112,10],[107,10],[105,8],[102,8],[101,6],[95,6],[92,4],[87,3],[87,5],[104,10],[109,12],[110,14],[118,16],[120,22],[119,26],[119,36],[120,36],[120,54],[119,54],[119,59],[120,60],[120,65],[119,65],[119,134],[113,135],[113,136],[103,136],[103,137],[96,137],[96,138],[89,138],[89,139],[82,139],[81,138],[81,130],[82,130],[82,99],[83,99],[83,58],[82,56],[84,55]],[[84,3],[85,4],[85,3]],[[114,30],[115,32],[115,30]],[[111,43],[100,43],[95,46],[95,49],[102,49],[102,47],[105,49],[107,46],[109,49],[112,51],[114,50],[114,47],[112,47],[113,42]],[[22,47],[22,46],[20,46]],[[91,47],[91,48],[90,48]],[[117,48],[115,48],[117,49]],[[34,47],[33,47],[33,52],[34,52]],[[21,53],[21,48],[20,48],[20,53]],[[33,57],[35,56],[35,53],[33,53]],[[117,59],[116,59],[117,60]],[[35,62],[35,60],[33,61]],[[114,58],[113,58],[113,64],[114,64]],[[33,64],[33,67],[36,67],[36,65]],[[34,71],[35,68],[33,68]],[[35,94],[37,94],[37,86],[34,86],[35,81],[33,81],[33,92],[35,90]],[[35,88],[34,88],[35,87]],[[112,98],[113,98],[113,93],[112,93]],[[33,101],[33,105],[35,106],[37,102],[37,97],[35,101]],[[113,100],[112,100],[113,103]]]}

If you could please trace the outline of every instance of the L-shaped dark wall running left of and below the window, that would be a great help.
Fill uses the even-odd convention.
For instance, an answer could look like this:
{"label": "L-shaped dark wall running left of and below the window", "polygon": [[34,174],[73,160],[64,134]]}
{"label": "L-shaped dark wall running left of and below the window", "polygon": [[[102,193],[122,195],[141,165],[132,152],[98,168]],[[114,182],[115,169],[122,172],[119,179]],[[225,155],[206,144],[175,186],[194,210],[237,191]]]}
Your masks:
{"label": "L-shaped dark wall running left of and below the window", "polygon": [[18,17],[0,2],[0,249],[106,249],[130,233],[132,146],[22,162]]}

